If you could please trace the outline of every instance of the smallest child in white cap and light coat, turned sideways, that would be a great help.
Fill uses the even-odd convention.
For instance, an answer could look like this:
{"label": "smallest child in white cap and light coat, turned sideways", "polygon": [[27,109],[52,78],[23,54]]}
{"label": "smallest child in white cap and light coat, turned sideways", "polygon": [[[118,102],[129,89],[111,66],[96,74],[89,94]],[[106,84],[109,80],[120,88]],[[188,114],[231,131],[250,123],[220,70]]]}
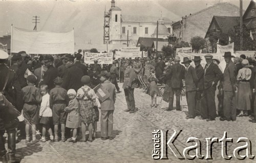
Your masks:
{"label": "smallest child in white cap and light coat, turned sideways", "polygon": [[76,99],[76,91],[68,90],[69,106],[65,108],[68,113],[66,127],[73,129],[73,137],[69,142],[76,143],[77,128],[80,125],[79,102]]}

